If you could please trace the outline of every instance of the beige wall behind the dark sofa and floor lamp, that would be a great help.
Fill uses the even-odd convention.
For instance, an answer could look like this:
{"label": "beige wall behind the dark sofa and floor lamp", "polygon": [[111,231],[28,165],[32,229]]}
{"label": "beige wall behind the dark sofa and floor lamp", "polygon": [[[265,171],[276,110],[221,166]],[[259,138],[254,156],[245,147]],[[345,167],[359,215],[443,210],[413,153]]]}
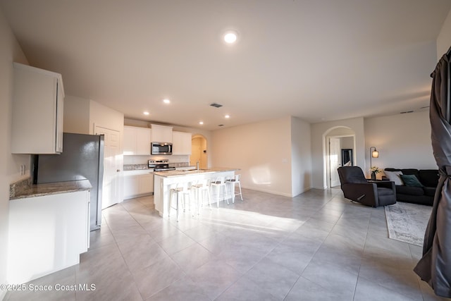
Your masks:
{"label": "beige wall behind the dark sofa and floor lamp", "polygon": [[431,146],[429,112],[397,114],[365,119],[365,158],[369,166],[369,148],[376,147],[379,168],[437,168]]}

